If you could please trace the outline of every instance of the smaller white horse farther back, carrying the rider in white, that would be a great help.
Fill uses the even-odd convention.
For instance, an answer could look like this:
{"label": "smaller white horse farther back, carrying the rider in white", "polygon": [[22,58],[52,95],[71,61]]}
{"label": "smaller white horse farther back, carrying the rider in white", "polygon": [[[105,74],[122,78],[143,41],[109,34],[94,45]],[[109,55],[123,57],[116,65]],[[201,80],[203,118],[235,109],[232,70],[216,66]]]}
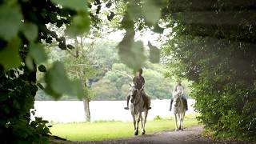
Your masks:
{"label": "smaller white horse farther back, carrying the rider in white", "polygon": [[[184,100],[182,99],[182,94],[174,93],[173,110],[176,130],[183,130],[183,120],[186,113],[186,107],[184,105]],[[179,125],[177,124],[177,121],[179,122]]]}

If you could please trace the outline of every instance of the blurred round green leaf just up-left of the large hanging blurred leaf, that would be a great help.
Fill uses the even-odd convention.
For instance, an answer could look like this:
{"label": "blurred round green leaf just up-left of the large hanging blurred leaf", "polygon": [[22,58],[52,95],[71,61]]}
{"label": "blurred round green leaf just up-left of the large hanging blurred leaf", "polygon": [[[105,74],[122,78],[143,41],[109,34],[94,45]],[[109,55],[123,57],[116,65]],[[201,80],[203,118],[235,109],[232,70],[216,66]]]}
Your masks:
{"label": "blurred round green leaf just up-left of the large hanging blurred leaf", "polygon": [[30,56],[34,59],[36,64],[40,64],[42,62],[45,62],[47,59],[46,52],[43,48],[43,46],[39,43],[32,43],[30,44]]}

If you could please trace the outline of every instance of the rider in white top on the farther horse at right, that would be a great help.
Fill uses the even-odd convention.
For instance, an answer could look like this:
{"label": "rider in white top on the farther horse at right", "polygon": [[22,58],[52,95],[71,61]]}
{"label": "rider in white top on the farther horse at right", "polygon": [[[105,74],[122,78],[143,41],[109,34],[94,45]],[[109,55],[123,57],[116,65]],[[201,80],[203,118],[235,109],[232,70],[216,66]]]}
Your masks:
{"label": "rider in white top on the farther horse at right", "polygon": [[[184,87],[182,86],[182,82],[180,80],[177,80],[177,84],[176,84],[176,86],[174,86],[173,95],[174,94],[181,94],[182,95],[182,100],[184,102],[185,108],[186,108],[186,110],[188,110],[186,97],[184,95]],[[173,102],[174,102],[174,98],[170,98],[170,111],[171,111],[171,107],[173,105]]]}

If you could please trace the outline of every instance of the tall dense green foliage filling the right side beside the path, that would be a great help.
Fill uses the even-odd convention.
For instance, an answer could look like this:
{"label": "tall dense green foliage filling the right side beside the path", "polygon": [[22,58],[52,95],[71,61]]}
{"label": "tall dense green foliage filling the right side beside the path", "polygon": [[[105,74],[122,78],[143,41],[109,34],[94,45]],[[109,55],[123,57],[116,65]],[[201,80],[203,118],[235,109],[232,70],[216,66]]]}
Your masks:
{"label": "tall dense green foliage filling the right side beside the path", "polygon": [[193,82],[198,118],[218,137],[255,140],[254,4],[170,0],[163,10],[170,73]]}

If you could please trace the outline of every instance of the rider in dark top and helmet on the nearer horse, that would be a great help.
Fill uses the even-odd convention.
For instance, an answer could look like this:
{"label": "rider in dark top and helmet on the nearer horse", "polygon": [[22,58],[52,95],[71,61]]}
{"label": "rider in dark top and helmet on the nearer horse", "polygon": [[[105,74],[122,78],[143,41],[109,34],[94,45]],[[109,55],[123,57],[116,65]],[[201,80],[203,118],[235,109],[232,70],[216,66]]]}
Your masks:
{"label": "rider in dark top and helmet on the nearer horse", "polygon": [[[136,89],[141,90],[142,87],[145,84],[145,79],[142,77],[143,70],[142,68],[138,69],[137,75],[133,78],[134,86]],[[144,89],[142,89],[142,99],[144,101],[144,105],[146,106],[147,110],[150,110],[151,107],[149,106],[148,98],[146,97],[146,93]],[[124,107],[124,109],[129,110],[129,100],[130,100],[130,94],[127,95],[127,106]]]}

